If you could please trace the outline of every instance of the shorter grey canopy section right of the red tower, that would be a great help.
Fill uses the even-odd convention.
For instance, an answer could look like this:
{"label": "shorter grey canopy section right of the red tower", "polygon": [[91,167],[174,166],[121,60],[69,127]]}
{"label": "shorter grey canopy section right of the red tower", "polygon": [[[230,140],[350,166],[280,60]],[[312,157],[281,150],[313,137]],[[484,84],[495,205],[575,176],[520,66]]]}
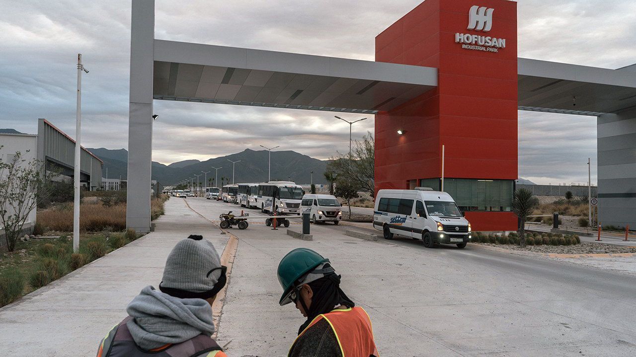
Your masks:
{"label": "shorter grey canopy section right of the red tower", "polygon": [[635,69],[519,58],[519,109],[597,116],[636,107]]}

